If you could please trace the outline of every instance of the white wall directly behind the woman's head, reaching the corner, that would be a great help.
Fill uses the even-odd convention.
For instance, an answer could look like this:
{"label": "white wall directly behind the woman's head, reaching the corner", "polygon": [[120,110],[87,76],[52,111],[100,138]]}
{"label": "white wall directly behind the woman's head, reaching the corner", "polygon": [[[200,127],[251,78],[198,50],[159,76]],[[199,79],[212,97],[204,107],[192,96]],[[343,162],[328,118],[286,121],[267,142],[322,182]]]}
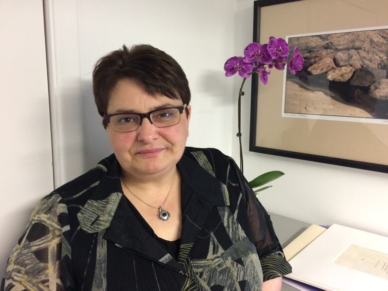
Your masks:
{"label": "white wall directly behind the woman's head, reaching the corner", "polygon": [[60,153],[56,186],[111,153],[94,103],[91,73],[98,58],[123,44],[154,45],[181,64],[192,91],[188,144],[231,153],[235,81],[224,78],[223,65],[235,51],[235,0],[46,2],[55,43],[49,53],[56,64],[50,80],[61,88],[54,96],[58,142],[53,143]]}

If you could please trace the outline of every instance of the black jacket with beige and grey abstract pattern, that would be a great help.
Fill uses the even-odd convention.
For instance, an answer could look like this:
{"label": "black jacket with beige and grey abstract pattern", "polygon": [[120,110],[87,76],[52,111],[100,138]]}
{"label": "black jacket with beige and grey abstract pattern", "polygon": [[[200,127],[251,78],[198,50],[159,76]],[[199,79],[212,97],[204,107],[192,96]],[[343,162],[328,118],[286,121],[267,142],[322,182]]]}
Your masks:
{"label": "black jacket with beige and grey abstract pattern", "polygon": [[177,260],[128,207],[111,155],[35,207],[0,291],[260,291],[291,272],[231,158],[187,147],[178,169],[186,202]]}

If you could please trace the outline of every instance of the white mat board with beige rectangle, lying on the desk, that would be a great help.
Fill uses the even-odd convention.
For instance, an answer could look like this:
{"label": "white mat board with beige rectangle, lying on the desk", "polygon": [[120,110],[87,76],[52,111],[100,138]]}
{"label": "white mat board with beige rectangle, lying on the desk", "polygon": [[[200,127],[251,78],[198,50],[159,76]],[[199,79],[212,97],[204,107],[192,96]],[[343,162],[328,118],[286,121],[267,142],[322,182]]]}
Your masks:
{"label": "white mat board with beige rectangle, lying on the desk", "polygon": [[287,277],[327,291],[388,291],[388,237],[334,224],[290,260]]}

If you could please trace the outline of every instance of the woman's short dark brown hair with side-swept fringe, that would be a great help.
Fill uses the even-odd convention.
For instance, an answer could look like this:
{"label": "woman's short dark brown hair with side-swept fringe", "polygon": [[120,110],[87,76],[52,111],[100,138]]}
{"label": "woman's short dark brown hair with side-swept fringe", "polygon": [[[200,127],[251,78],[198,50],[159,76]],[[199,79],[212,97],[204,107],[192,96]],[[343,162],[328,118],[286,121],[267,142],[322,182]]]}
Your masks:
{"label": "woman's short dark brown hair with side-swept fringe", "polygon": [[[190,103],[189,82],[178,62],[151,45],[139,44],[110,52],[93,70],[93,94],[99,115],[106,114],[110,94],[122,79],[138,81],[150,95],[164,95]],[[104,124],[106,127],[106,124]]]}

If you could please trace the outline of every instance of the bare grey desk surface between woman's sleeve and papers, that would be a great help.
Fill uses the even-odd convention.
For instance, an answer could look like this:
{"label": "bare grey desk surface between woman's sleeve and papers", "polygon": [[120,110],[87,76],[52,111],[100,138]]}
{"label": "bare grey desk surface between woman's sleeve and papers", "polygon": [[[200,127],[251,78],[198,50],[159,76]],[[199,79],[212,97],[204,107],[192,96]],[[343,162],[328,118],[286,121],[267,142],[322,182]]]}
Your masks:
{"label": "bare grey desk surface between woman's sleeve and papers", "polygon": [[[278,236],[280,244],[283,248],[311,225],[311,223],[292,219],[275,213],[269,214],[272,220],[272,224],[274,225],[276,235]],[[282,291],[298,290],[283,283]]]}

